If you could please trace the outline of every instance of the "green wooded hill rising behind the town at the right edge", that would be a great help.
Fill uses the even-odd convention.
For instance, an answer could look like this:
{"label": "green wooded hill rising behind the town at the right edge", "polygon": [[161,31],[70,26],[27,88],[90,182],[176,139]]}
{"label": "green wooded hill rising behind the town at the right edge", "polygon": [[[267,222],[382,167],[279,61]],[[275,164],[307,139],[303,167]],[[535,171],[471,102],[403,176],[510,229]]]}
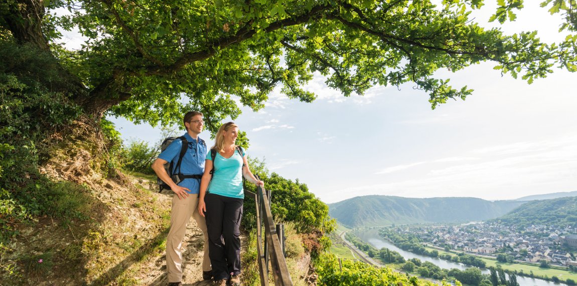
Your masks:
{"label": "green wooded hill rising behind the town at the right edge", "polygon": [[532,224],[577,228],[577,197],[530,201],[495,219],[505,225],[529,227]]}

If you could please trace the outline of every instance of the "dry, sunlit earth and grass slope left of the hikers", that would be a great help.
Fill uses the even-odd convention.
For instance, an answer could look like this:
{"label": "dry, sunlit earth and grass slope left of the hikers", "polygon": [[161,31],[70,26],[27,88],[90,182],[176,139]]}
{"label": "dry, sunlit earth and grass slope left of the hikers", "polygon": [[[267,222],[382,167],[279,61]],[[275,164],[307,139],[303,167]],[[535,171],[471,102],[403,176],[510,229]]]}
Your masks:
{"label": "dry, sunlit earth and grass slope left of the hikers", "polygon": [[[78,123],[70,135],[74,144],[54,146],[41,168],[62,189],[53,200],[59,208],[74,207],[73,215],[47,214],[18,224],[0,259],[0,285],[167,284],[164,243],[172,195],[106,168],[93,155],[98,133],[83,127]],[[204,285],[202,244],[201,231],[190,220],[183,241],[189,285]]]}

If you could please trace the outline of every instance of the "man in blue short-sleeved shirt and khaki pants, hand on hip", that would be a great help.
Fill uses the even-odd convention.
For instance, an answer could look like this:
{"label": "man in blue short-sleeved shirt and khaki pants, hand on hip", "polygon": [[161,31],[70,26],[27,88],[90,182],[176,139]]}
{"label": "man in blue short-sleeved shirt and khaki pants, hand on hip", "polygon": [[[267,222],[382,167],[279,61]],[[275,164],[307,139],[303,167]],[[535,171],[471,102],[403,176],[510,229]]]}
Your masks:
{"label": "man in blue short-sleeved shirt and khaki pants, hand on hip", "polygon": [[[188,141],[188,149],[182,158],[180,171],[183,175],[202,175],[204,172],[204,162],[207,154],[207,144],[198,134],[203,131],[203,114],[197,111],[190,111],[184,115],[184,126],[186,133],[183,135]],[[208,235],[207,224],[203,216],[198,213],[198,190],[200,179],[185,178],[182,182],[176,183],[168,176],[164,170],[164,164],[173,161],[176,165],[182,148],[182,140],[174,140],[152,163],[152,170],[156,172],[158,178],[163,180],[170,189],[174,191],[172,202],[172,212],[170,214],[170,231],[166,240],[166,269],[168,272],[168,285],[182,285],[182,239],[186,232],[186,223],[190,216],[194,217],[198,227],[204,235],[204,258],[203,258],[203,279],[211,279],[211,262],[208,257]],[[178,170],[173,170],[173,174]],[[200,176],[199,176],[200,178]]]}

